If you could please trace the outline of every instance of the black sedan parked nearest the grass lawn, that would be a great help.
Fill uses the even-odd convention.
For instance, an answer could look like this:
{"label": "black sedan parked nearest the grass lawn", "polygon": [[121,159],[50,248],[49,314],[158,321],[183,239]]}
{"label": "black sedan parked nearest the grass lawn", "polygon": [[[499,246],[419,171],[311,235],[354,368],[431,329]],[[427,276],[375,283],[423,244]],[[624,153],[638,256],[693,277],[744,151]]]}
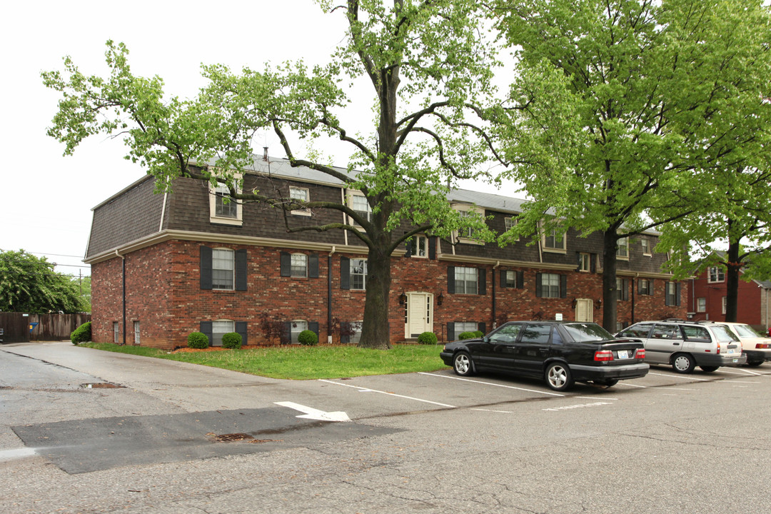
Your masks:
{"label": "black sedan parked nearest the grass lawn", "polygon": [[510,321],[483,338],[447,343],[439,356],[461,376],[508,371],[543,378],[555,391],[574,381],[611,387],[648,374],[640,341],[579,321]]}

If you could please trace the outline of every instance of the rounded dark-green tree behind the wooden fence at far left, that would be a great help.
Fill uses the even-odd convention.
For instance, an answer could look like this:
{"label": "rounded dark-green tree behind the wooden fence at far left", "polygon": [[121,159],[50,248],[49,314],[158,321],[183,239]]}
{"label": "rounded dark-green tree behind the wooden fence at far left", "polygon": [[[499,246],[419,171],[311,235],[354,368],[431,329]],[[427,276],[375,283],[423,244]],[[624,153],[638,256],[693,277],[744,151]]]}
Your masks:
{"label": "rounded dark-green tree behind the wooden fence at far left", "polygon": [[0,311],[45,314],[80,311],[75,284],[56,264],[24,250],[0,250]]}

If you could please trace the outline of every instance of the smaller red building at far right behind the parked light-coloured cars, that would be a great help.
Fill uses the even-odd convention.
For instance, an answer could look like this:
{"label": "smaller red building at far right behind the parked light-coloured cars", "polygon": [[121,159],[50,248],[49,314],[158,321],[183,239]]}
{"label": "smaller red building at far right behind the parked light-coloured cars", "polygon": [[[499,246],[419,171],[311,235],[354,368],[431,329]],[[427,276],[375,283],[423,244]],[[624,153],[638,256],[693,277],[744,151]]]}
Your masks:
{"label": "smaller red building at far right behind the parked light-coloured cars", "polygon": [[[688,314],[694,321],[726,321],[725,268],[712,266],[703,270],[691,280],[688,291]],[[766,334],[771,326],[771,281],[739,280],[738,294],[736,321]]]}

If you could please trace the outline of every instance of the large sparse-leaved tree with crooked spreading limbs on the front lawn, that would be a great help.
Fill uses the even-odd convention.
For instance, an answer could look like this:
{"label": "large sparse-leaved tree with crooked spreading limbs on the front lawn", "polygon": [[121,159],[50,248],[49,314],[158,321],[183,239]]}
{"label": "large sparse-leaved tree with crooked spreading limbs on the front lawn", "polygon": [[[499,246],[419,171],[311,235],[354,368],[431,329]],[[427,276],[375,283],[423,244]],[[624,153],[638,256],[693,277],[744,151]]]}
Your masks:
{"label": "large sparse-leaved tree with crooked spreading limbs on the front lawn", "polygon": [[[302,61],[287,62],[240,74],[204,66],[209,85],[195,99],[166,98],[159,77],[134,76],[122,44],[108,42],[111,71],[105,78],[82,74],[66,58],[63,72],[42,74],[45,85],[62,94],[49,135],[66,143],[69,154],[87,136],[125,134],[128,157],[146,166],[160,190],[188,176],[225,183],[236,200],[345,213],[351,223],[291,230],[348,230],[367,247],[359,344],[389,348],[392,252],[429,230],[446,236],[471,227],[490,237],[481,217],[461,219],[449,208],[446,190],[457,178],[476,176],[488,158],[491,141],[480,106],[492,90],[495,47],[480,38],[486,20],[473,0],[347,0],[335,8],[328,0],[318,3],[346,21],[328,65],[308,69]],[[346,82],[362,80],[367,85],[356,86],[355,96],[346,92]],[[369,98],[357,100],[366,91]],[[344,109],[372,112],[374,119],[344,126]],[[238,177],[252,161],[251,139],[262,129],[278,135],[292,166],[308,166],[360,190],[371,216],[345,203],[239,193]],[[296,138],[348,143],[347,173],[319,156],[296,156]]]}

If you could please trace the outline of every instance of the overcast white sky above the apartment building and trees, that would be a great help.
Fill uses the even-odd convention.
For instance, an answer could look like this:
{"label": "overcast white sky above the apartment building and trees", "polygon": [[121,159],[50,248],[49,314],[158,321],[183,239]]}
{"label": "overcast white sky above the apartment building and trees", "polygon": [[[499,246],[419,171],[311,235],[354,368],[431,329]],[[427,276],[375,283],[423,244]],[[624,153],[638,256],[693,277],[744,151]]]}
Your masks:
{"label": "overcast white sky above the apartment building and trees", "polygon": [[[0,249],[46,254],[75,276],[90,274],[82,256],[91,208],[144,171],[123,160],[120,140],[104,136],[62,156],[63,145],[45,135],[59,97],[42,86],[41,71],[62,69],[62,57],[71,55],[82,72],[104,76],[104,44],[113,39],[128,46],[135,75],[161,76],[167,94],[192,97],[204,85],[202,62],[236,71],[266,61],[327,62],[342,37],[342,15],[324,15],[312,0],[26,0],[4,4],[0,18]],[[264,137],[271,155],[282,156],[272,133]]]}

